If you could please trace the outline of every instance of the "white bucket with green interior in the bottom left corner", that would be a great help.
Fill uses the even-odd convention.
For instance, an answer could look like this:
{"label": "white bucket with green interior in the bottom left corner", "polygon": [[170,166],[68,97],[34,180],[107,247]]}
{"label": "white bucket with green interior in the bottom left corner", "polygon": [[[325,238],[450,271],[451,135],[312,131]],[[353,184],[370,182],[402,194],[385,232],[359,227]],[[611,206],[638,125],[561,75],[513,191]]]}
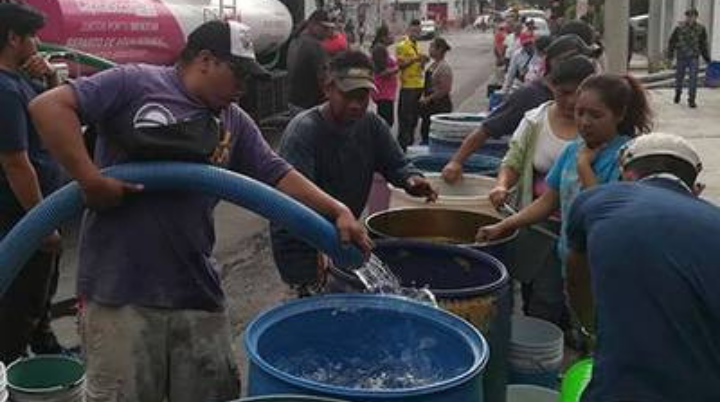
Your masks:
{"label": "white bucket with green interior in the bottom left corner", "polygon": [[62,355],[40,355],[16,360],[7,368],[13,401],[81,401],[85,367]]}

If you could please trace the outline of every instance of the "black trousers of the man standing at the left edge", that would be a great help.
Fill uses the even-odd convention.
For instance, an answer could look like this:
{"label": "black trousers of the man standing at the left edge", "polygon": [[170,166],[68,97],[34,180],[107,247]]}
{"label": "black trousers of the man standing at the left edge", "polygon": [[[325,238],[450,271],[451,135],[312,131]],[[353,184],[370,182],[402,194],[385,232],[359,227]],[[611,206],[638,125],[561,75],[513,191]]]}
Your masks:
{"label": "black trousers of the man standing at the left edge", "polygon": [[36,252],[0,298],[0,361],[25,354],[33,332],[45,318],[57,256]]}

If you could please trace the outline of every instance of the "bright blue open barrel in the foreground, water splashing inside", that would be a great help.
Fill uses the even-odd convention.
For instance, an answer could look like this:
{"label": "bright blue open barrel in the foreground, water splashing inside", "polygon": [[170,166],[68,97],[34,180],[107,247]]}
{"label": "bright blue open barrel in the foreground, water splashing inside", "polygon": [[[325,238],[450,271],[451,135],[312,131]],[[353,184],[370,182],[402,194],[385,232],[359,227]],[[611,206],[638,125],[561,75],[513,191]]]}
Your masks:
{"label": "bright blue open barrel in the foreground, water splashing inside", "polygon": [[249,396],[354,402],[478,402],[484,338],[444,310],[405,298],[339,294],[295,300],[245,330]]}

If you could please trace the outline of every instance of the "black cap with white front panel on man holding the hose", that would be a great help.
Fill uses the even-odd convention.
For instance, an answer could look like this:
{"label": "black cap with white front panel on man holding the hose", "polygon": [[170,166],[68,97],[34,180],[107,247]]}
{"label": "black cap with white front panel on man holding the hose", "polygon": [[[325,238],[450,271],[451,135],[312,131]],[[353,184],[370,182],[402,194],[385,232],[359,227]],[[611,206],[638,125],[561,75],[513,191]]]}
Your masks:
{"label": "black cap with white front panel on man holding the hose", "polygon": [[250,27],[241,22],[208,21],[190,33],[186,46],[196,50],[208,50],[227,60],[240,75],[270,78],[270,72],[255,58]]}

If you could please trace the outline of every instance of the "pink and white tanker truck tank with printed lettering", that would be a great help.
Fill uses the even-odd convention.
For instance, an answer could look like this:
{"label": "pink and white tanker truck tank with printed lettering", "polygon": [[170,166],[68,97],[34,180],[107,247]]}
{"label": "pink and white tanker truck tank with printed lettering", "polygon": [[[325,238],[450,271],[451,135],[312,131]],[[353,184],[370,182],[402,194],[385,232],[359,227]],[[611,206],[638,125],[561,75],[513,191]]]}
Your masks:
{"label": "pink and white tanker truck tank with printed lettering", "polygon": [[259,54],[290,36],[292,17],[278,0],[26,0],[47,16],[44,42],[117,63],[172,63],[204,21],[231,18],[252,29]]}

